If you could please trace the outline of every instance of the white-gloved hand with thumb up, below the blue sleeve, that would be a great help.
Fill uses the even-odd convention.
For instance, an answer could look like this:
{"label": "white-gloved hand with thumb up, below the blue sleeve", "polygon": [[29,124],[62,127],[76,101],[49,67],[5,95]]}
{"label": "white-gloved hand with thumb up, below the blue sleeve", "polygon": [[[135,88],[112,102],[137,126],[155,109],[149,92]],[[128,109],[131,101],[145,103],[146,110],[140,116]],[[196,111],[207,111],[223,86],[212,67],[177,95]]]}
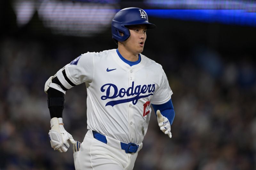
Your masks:
{"label": "white-gloved hand with thumb up, below the blue sleeve", "polygon": [[156,111],[156,115],[157,115],[157,122],[158,122],[158,126],[160,127],[160,130],[162,130],[164,134],[168,134],[168,136],[172,138],[171,124],[169,120],[161,114],[160,110]]}

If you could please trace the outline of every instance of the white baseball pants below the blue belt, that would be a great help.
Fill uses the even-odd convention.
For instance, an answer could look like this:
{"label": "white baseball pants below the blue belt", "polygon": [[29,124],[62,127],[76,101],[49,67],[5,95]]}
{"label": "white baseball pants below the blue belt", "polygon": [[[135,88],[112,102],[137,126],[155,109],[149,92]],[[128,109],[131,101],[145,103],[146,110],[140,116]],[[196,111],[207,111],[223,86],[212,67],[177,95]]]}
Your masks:
{"label": "white baseball pants below the blue belt", "polygon": [[76,170],[132,170],[137,155],[98,141],[88,130],[80,150],[74,153],[74,163]]}

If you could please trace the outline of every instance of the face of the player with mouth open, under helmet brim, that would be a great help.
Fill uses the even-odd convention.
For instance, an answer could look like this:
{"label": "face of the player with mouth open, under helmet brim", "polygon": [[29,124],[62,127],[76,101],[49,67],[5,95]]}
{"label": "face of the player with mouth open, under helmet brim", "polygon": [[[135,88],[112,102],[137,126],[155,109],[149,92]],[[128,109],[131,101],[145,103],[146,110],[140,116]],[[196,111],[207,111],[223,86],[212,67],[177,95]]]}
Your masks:
{"label": "face of the player with mouth open, under helmet brim", "polygon": [[143,51],[144,44],[147,38],[146,25],[133,25],[127,27],[130,30],[130,37],[124,41],[126,49],[133,54],[139,54]]}

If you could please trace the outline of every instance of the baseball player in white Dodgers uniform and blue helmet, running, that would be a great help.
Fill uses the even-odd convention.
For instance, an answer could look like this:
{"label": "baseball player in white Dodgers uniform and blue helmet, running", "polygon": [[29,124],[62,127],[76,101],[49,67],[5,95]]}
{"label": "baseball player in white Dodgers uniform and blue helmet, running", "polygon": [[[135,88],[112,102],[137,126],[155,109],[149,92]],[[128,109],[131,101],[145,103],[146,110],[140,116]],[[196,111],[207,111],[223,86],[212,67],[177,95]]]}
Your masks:
{"label": "baseball player in white Dodgers uniform and blue helmet, running", "polygon": [[[133,169],[147,133],[150,104],[160,130],[172,137],[172,90],[162,66],[141,54],[147,29],[155,27],[140,8],[118,11],[112,20],[117,49],[84,53],[46,81],[51,146],[66,152],[71,142],[76,169]],[[88,131],[80,144],[64,129],[62,111],[66,91],[81,83],[87,90]]]}

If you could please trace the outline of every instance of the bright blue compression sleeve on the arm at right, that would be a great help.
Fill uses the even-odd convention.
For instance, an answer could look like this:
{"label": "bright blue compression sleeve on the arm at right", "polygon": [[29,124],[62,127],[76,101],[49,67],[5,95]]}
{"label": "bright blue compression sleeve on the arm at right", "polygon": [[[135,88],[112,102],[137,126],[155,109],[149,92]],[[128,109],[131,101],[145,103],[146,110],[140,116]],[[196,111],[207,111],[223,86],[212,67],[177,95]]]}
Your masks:
{"label": "bright blue compression sleeve on the arm at right", "polygon": [[174,108],[173,108],[173,105],[172,105],[172,99],[170,99],[169,101],[167,101],[166,103],[164,104],[161,104],[161,105],[153,105],[153,108],[155,110],[155,113],[157,110],[160,110],[161,114],[166,117],[170,124],[172,125],[172,122],[173,122],[173,119],[175,117],[175,112],[174,112]]}

